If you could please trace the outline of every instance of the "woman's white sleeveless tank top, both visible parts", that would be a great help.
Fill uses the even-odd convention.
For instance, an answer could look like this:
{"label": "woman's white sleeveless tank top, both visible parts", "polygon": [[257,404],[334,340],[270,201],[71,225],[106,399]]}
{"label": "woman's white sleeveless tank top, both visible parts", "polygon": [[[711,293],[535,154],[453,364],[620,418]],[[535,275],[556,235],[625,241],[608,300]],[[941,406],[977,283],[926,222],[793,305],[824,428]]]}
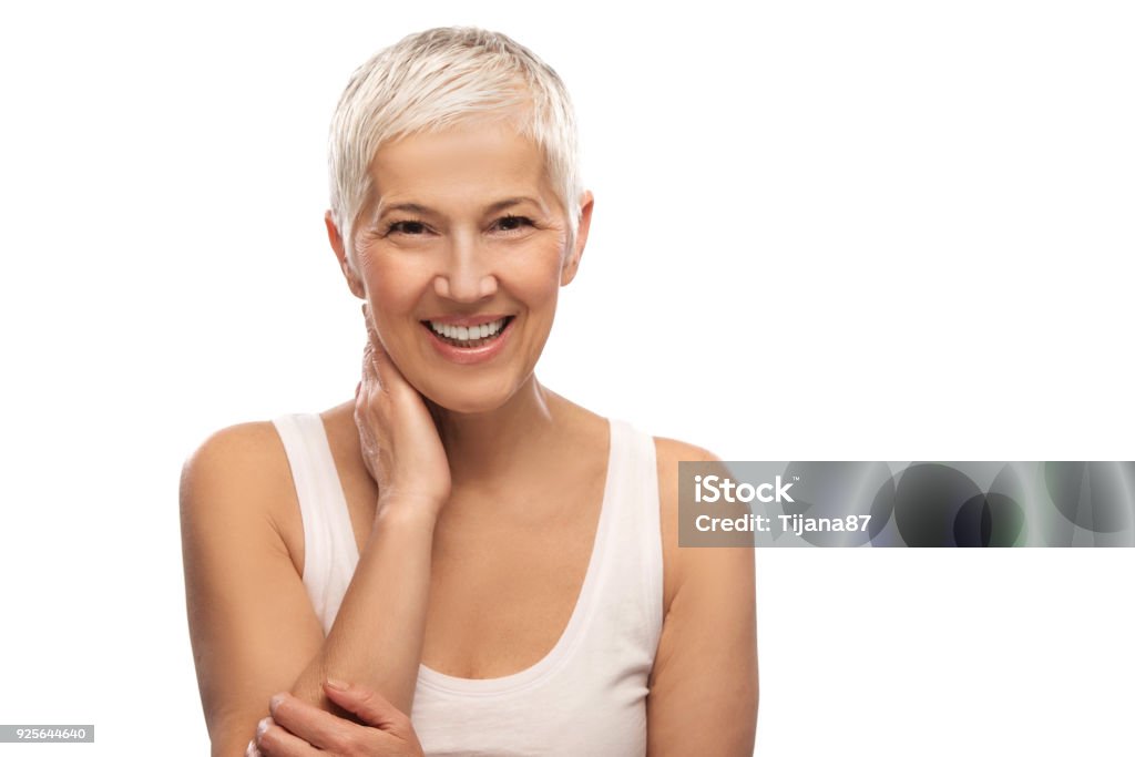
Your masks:
{"label": "woman's white sleeveless tank top, both visible parts", "polygon": [[[303,582],[326,634],[359,550],[322,420],[272,421],[303,518]],[[609,420],[598,529],[571,620],[531,667],[462,679],[419,666],[411,721],[427,755],[646,754],[647,676],[662,633],[662,537],[654,439]]]}

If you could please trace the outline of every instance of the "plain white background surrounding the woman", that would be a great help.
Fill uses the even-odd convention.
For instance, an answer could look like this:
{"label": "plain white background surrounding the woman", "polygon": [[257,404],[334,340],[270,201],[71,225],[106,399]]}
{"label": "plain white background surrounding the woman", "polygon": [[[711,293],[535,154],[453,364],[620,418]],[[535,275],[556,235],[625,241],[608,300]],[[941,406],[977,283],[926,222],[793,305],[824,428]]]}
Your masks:
{"label": "plain white background surrounding the woman", "polygon": [[[549,387],[726,460],[1132,457],[1126,3],[426,5],[0,11],[0,722],[98,734],[0,754],[207,754],[180,465],[352,395],[327,124],[429,26],[574,96]],[[757,567],[758,754],[1130,749],[1133,550]]]}

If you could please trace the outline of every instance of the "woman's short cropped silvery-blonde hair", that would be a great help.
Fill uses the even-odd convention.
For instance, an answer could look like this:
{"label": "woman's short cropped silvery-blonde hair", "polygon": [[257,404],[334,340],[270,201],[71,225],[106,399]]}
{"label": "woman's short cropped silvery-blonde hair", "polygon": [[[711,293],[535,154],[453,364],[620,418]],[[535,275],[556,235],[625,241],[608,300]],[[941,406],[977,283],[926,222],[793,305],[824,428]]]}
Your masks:
{"label": "woman's short cropped silvery-blonde hair", "polygon": [[582,183],[571,99],[560,76],[532,51],[498,32],[468,26],[411,34],[376,53],[351,76],[331,118],[331,218],[358,270],[354,233],[373,200],[370,165],[379,148],[478,116],[520,109],[520,134],[544,153],[574,245]]}

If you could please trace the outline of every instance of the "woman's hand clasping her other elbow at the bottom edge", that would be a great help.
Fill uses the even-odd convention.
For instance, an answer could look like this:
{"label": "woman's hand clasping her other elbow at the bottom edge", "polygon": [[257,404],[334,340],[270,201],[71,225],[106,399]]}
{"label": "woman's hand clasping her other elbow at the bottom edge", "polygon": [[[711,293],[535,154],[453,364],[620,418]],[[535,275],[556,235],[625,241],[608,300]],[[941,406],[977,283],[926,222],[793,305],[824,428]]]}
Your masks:
{"label": "woman's hand clasping her other elbow at the bottom edge", "polygon": [[354,713],[360,725],[283,692],[272,697],[270,717],[257,727],[246,757],[422,757],[410,718],[380,693],[358,685],[325,684],[327,698]]}

